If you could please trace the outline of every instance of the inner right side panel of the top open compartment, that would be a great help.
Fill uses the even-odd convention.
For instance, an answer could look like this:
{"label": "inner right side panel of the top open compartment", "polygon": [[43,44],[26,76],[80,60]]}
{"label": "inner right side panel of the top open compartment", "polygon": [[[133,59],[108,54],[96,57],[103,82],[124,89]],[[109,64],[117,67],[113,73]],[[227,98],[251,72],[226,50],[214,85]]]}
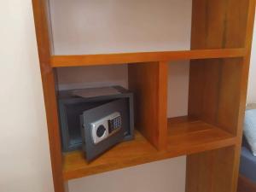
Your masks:
{"label": "inner right side panel of the top open compartment", "polygon": [[193,0],[191,49],[245,47],[250,0]]}

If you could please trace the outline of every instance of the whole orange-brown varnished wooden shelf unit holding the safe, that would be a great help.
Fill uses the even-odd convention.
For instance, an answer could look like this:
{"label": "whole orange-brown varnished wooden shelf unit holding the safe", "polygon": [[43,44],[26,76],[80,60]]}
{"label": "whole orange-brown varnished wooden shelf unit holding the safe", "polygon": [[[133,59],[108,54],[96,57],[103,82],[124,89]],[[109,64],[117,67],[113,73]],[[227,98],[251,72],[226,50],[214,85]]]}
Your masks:
{"label": "whole orange-brown varnished wooden shelf unit holding the safe", "polygon": [[[191,1],[191,50],[52,55],[49,2],[32,0],[55,192],[64,192],[69,179],[179,155],[187,155],[186,192],[236,192],[255,0]],[[186,120],[167,119],[167,63],[174,60],[191,60]],[[79,151],[63,155],[55,67],[119,63],[133,63],[136,139],[90,164]]]}

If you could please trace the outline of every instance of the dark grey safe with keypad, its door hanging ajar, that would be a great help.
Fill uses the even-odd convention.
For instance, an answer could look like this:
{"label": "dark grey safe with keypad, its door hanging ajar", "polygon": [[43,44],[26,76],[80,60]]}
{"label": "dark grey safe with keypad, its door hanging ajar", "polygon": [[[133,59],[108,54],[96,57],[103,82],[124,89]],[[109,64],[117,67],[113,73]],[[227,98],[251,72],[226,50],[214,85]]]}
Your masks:
{"label": "dark grey safe with keypad, its door hanging ajar", "polygon": [[[133,138],[131,91],[120,86],[62,90],[58,100],[63,152],[83,148],[90,161],[116,143]],[[105,120],[104,126],[101,120]]]}

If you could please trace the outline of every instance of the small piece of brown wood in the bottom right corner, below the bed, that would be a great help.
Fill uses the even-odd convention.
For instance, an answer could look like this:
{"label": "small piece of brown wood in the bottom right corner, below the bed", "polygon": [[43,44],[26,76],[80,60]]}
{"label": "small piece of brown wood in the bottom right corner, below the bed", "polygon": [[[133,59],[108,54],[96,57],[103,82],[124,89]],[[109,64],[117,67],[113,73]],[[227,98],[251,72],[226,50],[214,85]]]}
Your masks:
{"label": "small piece of brown wood in the bottom right corner, below the bed", "polygon": [[253,183],[253,181],[251,181],[247,177],[239,175],[237,192],[255,192],[255,191],[256,191],[256,183]]}

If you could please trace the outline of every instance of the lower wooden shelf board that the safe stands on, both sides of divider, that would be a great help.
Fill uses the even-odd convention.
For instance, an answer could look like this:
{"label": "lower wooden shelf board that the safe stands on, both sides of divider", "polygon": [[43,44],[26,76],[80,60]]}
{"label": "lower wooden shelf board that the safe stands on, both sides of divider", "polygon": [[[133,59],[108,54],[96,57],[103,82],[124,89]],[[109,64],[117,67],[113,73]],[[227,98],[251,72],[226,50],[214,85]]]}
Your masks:
{"label": "lower wooden shelf board that the safe stands on, both sides of divider", "polygon": [[155,160],[224,148],[236,143],[236,137],[230,133],[200,120],[169,119],[168,129],[166,151],[156,150],[136,131],[133,141],[120,143],[90,164],[84,160],[84,153],[81,151],[65,154],[63,160],[64,180],[137,166]]}

